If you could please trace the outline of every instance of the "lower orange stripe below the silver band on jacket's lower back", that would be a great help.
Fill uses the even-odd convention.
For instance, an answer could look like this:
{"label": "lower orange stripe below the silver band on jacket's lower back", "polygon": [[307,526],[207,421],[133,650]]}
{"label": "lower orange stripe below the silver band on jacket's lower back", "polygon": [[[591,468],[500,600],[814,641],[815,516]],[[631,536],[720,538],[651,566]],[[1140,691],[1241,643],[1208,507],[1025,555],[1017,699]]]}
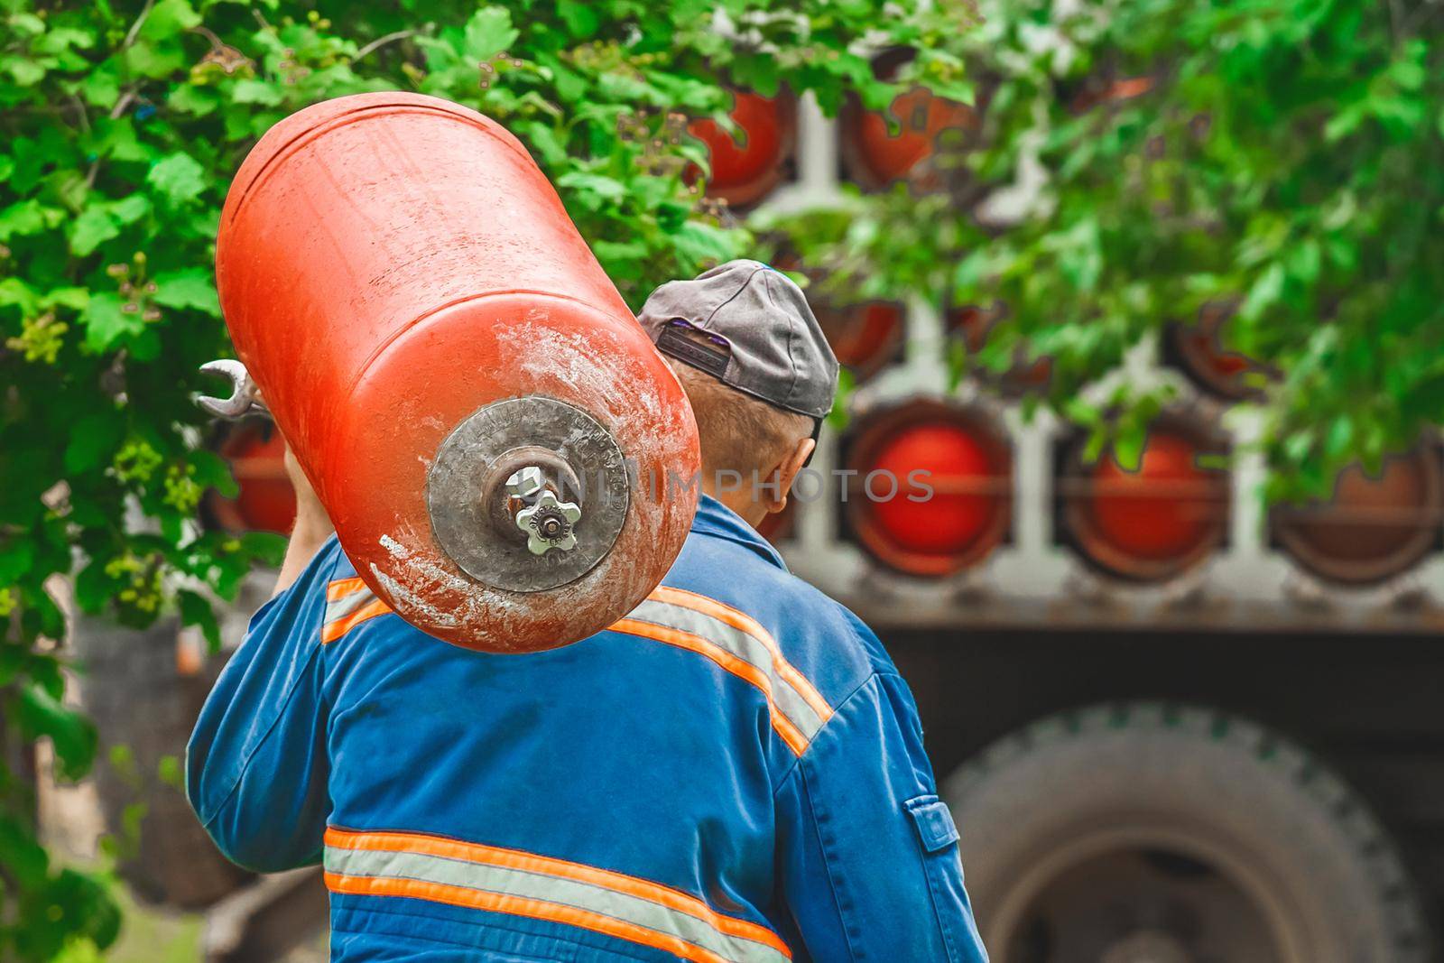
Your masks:
{"label": "lower orange stripe below the silver band on jacket's lower back", "polygon": [[474,910],[490,910],[492,912],[507,912],[516,917],[531,917],[533,920],[547,920],[550,923],[565,923],[567,925],[604,933],[606,936],[640,943],[679,956],[695,963],[728,963],[723,957],[703,950],[674,936],[657,933],[640,927],[634,923],[604,917],[589,910],[578,910],[557,902],[530,899],[526,897],[511,897],[485,889],[468,889],[465,886],[451,886],[439,882],[422,879],[396,879],[388,876],[341,876],[326,873],[326,888],[331,892],[357,894],[367,897],[412,897],[416,899],[430,899],[453,907],[469,907]]}

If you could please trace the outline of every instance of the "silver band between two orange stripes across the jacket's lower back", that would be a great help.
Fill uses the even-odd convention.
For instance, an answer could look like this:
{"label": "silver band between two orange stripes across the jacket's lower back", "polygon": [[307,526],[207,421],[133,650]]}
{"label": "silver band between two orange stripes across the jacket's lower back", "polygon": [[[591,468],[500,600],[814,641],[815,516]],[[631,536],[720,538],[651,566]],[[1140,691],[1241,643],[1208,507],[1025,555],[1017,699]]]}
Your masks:
{"label": "silver band between two orange stripes across the jacket's lower back", "polygon": [[416,879],[598,912],[656,933],[674,936],[736,963],[752,963],[754,960],[758,963],[788,963],[786,954],[765,943],[729,936],[690,914],[575,879],[445,856],[342,846],[326,846],[325,862],[328,873]]}

